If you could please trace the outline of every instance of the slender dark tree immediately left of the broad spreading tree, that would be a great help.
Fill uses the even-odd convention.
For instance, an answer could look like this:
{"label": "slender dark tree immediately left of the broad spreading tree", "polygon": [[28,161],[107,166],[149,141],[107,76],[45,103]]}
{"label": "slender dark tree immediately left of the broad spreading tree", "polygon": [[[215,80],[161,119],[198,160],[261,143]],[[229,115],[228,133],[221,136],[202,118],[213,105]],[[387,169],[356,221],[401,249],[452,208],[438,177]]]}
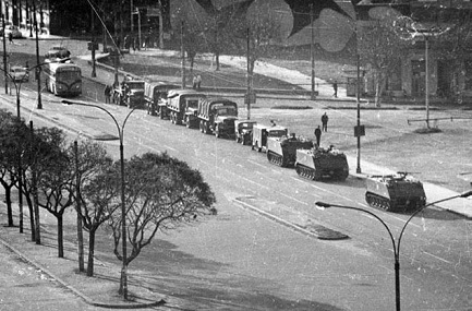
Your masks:
{"label": "slender dark tree immediately left of the broad spreading tree", "polygon": [[[69,147],[70,157],[74,157],[74,147]],[[95,236],[98,228],[107,222],[120,206],[118,198],[120,189],[110,178],[112,159],[106,148],[92,141],[82,142],[77,146],[77,171],[80,180],[80,216],[85,230],[88,231],[87,276],[94,275]],[[76,186],[76,184],[75,184]],[[74,191],[77,193],[77,191]],[[75,198],[77,200],[77,198]]]}

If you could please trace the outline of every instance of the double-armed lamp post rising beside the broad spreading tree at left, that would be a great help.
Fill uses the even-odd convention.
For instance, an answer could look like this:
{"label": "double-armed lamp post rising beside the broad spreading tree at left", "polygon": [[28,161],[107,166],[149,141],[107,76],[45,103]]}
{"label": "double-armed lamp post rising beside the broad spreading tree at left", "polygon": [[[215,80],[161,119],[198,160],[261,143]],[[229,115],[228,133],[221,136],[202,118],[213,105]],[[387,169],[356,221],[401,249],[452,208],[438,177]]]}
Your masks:
{"label": "double-armed lamp post rising beside the broad spreading tree at left", "polygon": [[71,101],[71,100],[62,100],[63,104],[66,105],[78,105],[78,106],[86,106],[86,107],[94,107],[97,109],[100,109],[102,111],[105,111],[108,116],[110,116],[110,118],[113,120],[114,124],[117,125],[117,130],[118,130],[118,137],[120,140],[120,170],[121,170],[121,235],[122,235],[122,240],[121,240],[121,246],[122,246],[122,268],[121,268],[121,280],[122,280],[122,286],[123,286],[123,299],[128,300],[128,275],[126,275],[126,267],[128,267],[128,263],[126,263],[126,207],[124,204],[124,146],[123,146],[123,131],[124,131],[124,125],[126,124],[128,118],[131,116],[131,113],[134,112],[134,110],[136,110],[136,108],[132,109],[126,117],[124,118],[123,123],[120,125],[117,121],[117,119],[114,118],[113,115],[111,115],[110,111],[108,111],[107,109],[105,109],[101,106],[98,105],[94,105],[94,104],[86,104],[86,103],[81,103],[81,101]]}

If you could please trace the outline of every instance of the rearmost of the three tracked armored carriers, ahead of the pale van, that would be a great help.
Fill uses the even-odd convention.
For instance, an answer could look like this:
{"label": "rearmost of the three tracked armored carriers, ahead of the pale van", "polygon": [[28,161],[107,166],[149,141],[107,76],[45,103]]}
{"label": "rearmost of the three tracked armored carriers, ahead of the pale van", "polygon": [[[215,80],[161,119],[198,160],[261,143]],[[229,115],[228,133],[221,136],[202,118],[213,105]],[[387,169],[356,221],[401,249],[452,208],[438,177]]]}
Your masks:
{"label": "rearmost of the three tracked armored carriers, ahead of the pale van", "polygon": [[296,149],[310,149],[313,142],[291,134],[290,137],[268,137],[267,159],[281,167],[293,167],[296,162]]}

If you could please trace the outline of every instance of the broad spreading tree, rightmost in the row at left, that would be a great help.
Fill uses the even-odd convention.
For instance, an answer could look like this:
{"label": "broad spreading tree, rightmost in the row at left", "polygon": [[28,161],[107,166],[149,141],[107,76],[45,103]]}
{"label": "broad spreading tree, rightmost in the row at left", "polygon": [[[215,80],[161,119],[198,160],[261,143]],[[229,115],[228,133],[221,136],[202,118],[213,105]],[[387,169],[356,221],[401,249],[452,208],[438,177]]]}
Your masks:
{"label": "broad spreading tree, rightmost in the row at left", "polygon": [[[119,189],[120,164],[114,165],[114,178],[110,182]],[[198,216],[216,213],[213,204],[215,194],[203,180],[199,171],[187,164],[172,158],[166,153],[146,153],[125,162],[125,206],[126,243],[131,253],[126,254],[124,267],[138,256],[150,243],[158,230],[172,230]],[[120,213],[110,218],[114,241],[114,254],[123,261],[120,253],[121,225]],[[126,282],[122,271],[120,294]]]}

